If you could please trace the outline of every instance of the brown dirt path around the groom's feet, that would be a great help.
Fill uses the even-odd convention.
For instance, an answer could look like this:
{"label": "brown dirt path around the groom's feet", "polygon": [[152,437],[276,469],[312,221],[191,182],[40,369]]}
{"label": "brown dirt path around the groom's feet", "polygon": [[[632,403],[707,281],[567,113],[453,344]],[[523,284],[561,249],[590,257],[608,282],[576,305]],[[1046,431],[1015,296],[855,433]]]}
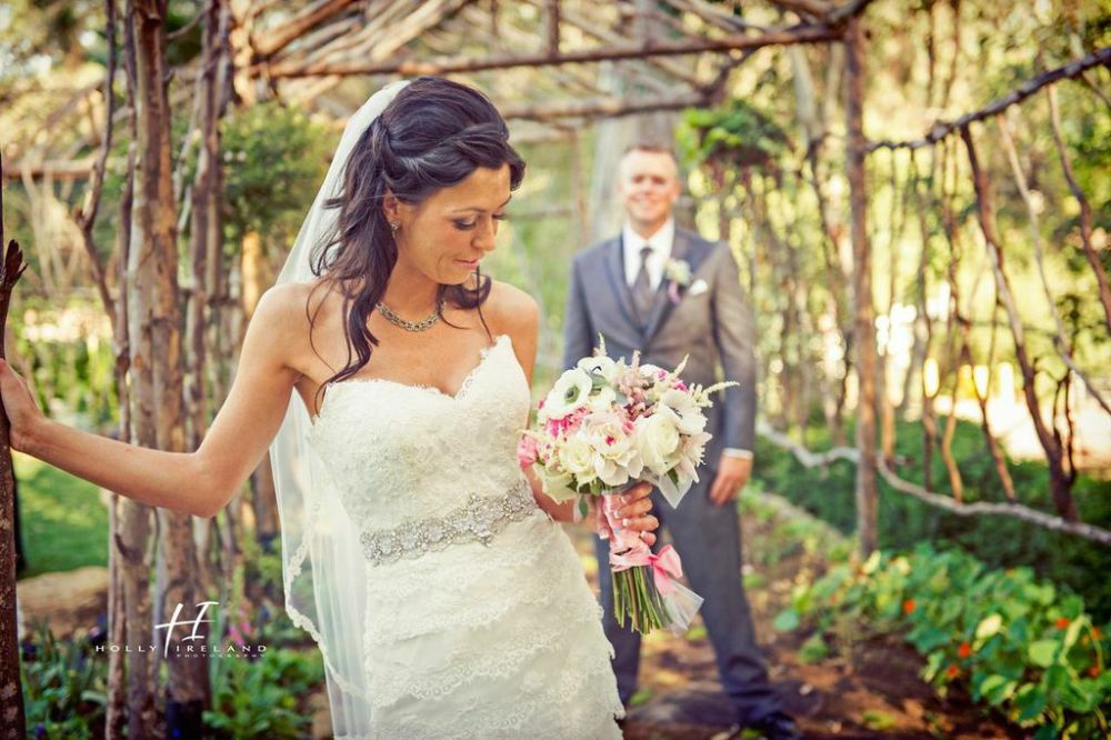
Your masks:
{"label": "brown dirt path around the groom's feet", "polygon": [[[751,512],[742,516],[748,594],[772,680],[805,737],[1021,737],[984,717],[967,697],[940,699],[918,678],[922,660],[897,639],[848,640],[848,654],[818,663],[801,660],[803,636],[775,632],[771,623],[790,602],[793,579],[805,570],[821,569],[825,550],[792,543],[790,522],[807,514],[775,497],[761,500],[764,518]],[[831,530],[829,537],[840,539]],[[577,533],[574,539],[583,562],[593,570],[589,533]],[[739,737],[732,708],[718,683],[713,650],[700,623],[685,638],[652,634],[644,640],[643,650],[641,692],[625,722],[625,738]]]}

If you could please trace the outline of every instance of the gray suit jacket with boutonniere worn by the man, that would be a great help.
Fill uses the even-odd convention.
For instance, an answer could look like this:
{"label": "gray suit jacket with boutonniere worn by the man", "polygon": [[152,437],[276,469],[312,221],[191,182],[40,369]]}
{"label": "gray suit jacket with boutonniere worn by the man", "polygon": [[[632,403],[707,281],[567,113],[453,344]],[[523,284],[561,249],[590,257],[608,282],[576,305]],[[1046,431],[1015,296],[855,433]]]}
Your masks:
{"label": "gray suit jacket with boutonniere worn by the man", "polygon": [[[757,411],[755,320],[728,244],[710,242],[692,231],[675,229],[672,259],[685,260],[691,282],[680,289],[678,304],[668,297],[668,280],[660,281],[647,328],[641,330],[624,280],[621,237],[574,256],[563,321],[563,367],[573,367],[605,338],[607,354],[641,360],[671,370],[690,354],[682,372],[688,383],[725,380],[740,383],[715,393],[707,410],[705,462],[717,467],[723,448],[752,450]],[[699,281],[704,291],[691,294]]]}

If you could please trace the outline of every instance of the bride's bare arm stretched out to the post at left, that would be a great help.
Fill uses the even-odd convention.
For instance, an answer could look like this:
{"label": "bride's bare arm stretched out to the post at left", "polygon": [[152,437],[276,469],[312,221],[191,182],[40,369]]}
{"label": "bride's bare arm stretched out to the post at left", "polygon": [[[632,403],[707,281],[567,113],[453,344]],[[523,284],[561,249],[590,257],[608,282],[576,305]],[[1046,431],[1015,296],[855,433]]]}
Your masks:
{"label": "bride's bare arm stretched out to the post at left", "polygon": [[259,302],[234,383],[196,452],[127,444],[47,419],[23,379],[0,361],[12,447],[142,503],[214,516],[258,466],[284,417],[298,377],[286,352],[304,331],[298,314],[306,321],[303,310],[292,309],[298,288],[271,289]]}

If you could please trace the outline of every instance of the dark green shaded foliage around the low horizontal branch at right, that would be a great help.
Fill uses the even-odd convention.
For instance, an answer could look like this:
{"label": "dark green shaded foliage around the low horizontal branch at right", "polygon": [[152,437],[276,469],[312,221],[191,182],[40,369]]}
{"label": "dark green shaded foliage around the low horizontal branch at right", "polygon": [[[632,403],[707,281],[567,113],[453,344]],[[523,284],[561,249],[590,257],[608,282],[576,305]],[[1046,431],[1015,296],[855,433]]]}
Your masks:
{"label": "dark green shaded foliage around the low horizontal branch at right", "polygon": [[[943,423],[943,421],[942,421]],[[852,438],[850,426],[848,436]],[[803,440],[808,448],[830,446],[824,430],[810,429]],[[964,481],[967,501],[1002,500],[999,479],[987,453],[983,432],[967,422],[958,422],[953,457]],[[923,482],[921,424],[900,422],[895,456],[908,461],[898,469],[900,477]],[[1052,511],[1049,473],[1039,462],[1009,462],[1020,500],[1027,506]],[[805,468],[794,457],[770,443],[759,441],[753,479],[770,491],[785,497],[843,532],[855,529],[855,466],[838,461],[828,468]],[[939,493],[950,493],[944,464],[933,454],[932,486]],[[1028,566],[1042,578],[1068,584],[1080,593],[1099,619],[1111,619],[1111,551],[1080,538],[1051,532],[1009,517],[960,517],[879,483],[879,537],[883,549],[907,549],[919,542],[953,544],[971,552],[991,568]],[[1111,481],[1081,476],[1073,490],[1081,519],[1111,527]]]}

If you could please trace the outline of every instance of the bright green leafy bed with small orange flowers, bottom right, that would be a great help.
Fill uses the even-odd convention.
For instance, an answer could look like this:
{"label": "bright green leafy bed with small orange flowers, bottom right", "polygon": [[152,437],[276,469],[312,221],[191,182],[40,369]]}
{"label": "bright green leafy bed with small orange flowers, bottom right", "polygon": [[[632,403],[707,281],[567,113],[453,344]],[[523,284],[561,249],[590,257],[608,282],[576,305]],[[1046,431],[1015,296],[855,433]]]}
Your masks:
{"label": "bright green leafy bed with small orange flowers, bottom right", "polygon": [[1109,627],[1030,568],[992,570],[929,544],[875,552],[798,588],[783,614],[778,622],[798,621],[819,637],[838,633],[839,623],[901,634],[925,658],[922,677],[939,692],[962,683],[973,701],[1023,727],[1067,737],[1111,730]]}

